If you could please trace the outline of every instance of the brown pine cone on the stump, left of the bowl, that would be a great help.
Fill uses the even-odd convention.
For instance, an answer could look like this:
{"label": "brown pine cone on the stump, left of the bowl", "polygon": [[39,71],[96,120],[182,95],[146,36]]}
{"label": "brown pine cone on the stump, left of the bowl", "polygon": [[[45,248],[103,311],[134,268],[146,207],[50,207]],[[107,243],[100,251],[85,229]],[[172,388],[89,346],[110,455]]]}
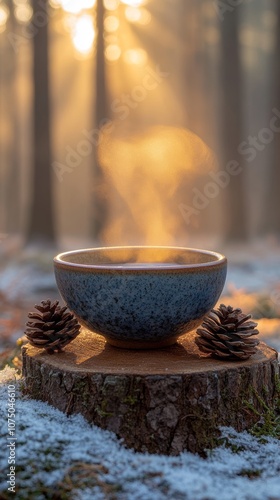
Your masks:
{"label": "brown pine cone on the stump, left of the bowl", "polygon": [[35,305],[38,312],[30,312],[26,323],[25,335],[30,344],[39,349],[46,349],[49,354],[61,351],[80,333],[80,325],[75,316],[67,311],[67,306],[60,307],[59,301],[51,303],[43,300]]}

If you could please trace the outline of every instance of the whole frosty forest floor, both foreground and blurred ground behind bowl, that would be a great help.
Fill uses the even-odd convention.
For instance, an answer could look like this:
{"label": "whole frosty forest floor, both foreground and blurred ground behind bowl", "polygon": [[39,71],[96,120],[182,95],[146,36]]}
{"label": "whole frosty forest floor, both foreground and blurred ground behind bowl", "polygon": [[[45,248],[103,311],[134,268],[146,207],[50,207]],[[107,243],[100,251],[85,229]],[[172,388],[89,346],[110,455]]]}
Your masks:
{"label": "whole frosty forest floor, both foreground and blurred ground behind bowl", "polygon": [[[258,320],[260,339],[280,352],[280,251],[275,245],[231,248],[220,302],[241,307]],[[66,417],[21,393],[20,349],[27,312],[34,303],[59,298],[52,254],[0,254],[0,443],[7,445],[8,384],[17,387],[17,494],[24,499],[280,500],[280,416],[272,436],[223,429],[205,459],[191,453],[155,456],[127,450],[117,438]],[[4,366],[8,364],[10,367]],[[2,365],[2,366],[1,366]],[[16,377],[16,379],[15,379]],[[266,415],[267,417],[267,415]],[[266,418],[261,417],[261,420]],[[8,453],[8,452],[7,452]],[[7,456],[0,470],[7,470]],[[0,479],[0,498],[12,498]]]}

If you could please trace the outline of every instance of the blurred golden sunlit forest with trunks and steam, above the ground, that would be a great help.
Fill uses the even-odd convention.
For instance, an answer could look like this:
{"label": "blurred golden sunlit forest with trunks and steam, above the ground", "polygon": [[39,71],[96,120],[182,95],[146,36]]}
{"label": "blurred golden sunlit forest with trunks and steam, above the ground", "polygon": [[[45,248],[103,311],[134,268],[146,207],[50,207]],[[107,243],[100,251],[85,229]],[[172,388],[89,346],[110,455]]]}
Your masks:
{"label": "blurred golden sunlit forest with trunks and steam, above the ground", "polygon": [[1,0],[2,243],[279,238],[279,51],[273,0]]}

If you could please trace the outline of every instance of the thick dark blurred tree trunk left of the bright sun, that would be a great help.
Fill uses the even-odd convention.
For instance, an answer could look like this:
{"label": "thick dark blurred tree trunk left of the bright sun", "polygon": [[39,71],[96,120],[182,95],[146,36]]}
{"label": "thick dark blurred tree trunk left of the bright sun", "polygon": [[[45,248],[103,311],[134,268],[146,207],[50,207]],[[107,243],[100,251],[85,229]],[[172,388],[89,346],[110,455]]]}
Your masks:
{"label": "thick dark blurred tree trunk left of the bright sun", "polygon": [[[33,19],[47,12],[47,0],[33,0]],[[43,24],[43,23],[41,23]],[[35,23],[36,27],[36,23]],[[48,22],[36,28],[33,38],[33,177],[27,243],[54,243],[53,189],[51,173]]]}

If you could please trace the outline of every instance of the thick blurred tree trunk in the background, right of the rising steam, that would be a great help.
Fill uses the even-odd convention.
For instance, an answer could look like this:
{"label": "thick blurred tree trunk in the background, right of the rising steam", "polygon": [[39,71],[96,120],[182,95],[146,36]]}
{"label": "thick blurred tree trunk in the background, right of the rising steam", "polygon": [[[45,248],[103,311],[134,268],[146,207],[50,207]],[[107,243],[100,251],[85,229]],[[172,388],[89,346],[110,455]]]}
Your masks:
{"label": "thick blurred tree trunk in the background, right of the rising steam", "polygon": [[224,14],[221,26],[221,169],[230,160],[237,160],[242,168],[232,175],[224,189],[226,207],[225,237],[227,241],[240,241],[248,236],[247,210],[245,204],[246,171],[238,146],[244,140],[242,131],[242,70],[238,41],[239,7]]}

